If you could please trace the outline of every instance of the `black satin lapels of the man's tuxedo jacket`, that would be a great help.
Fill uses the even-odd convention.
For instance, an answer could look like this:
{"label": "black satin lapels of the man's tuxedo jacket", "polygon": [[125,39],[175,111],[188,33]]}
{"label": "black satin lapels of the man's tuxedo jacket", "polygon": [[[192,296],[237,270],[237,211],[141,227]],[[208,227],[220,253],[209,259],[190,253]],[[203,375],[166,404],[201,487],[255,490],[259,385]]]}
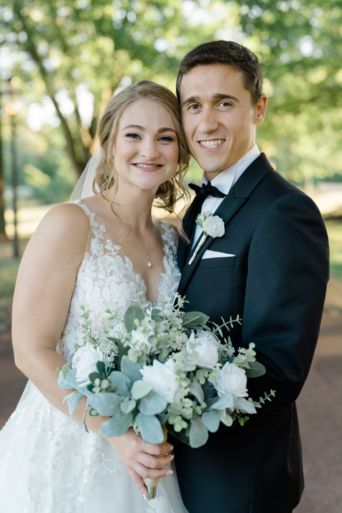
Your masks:
{"label": "black satin lapels of the man's tuxedo jacket", "polygon": [[[236,212],[246,203],[250,194],[253,192],[257,184],[264,178],[264,176],[272,170],[272,166],[270,165],[267,157],[264,153],[261,153],[255,161],[252,162],[250,166],[244,171],[242,176],[237,180],[236,184],[232,187],[227,194],[226,198],[215,210],[214,215],[218,215],[223,222],[225,223],[225,227],[227,227],[229,221],[233,218]],[[195,202],[195,200],[194,200]],[[193,203],[194,203],[193,202]],[[190,207],[191,208],[191,207]],[[189,209],[190,211],[190,209]],[[195,213],[192,213],[191,218],[186,220],[187,225],[187,233],[190,233],[190,223],[195,225],[195,218],[198,213],[198,209]],[[194,226],[192,227],[194,230]],[[199,238],[200,240],[201,238]],[[214,239],[212,237],[208,237],[203,246],[199,249],[194,261],[191,265],[189,265],[189,260],[196,250],[196,247],[199,243],[195,244],[192,251],[183,251],[183,265],[182,265],[182,277],[180,278],[178,292],[180,295],[183,294],[186,289],[187,284],[191,280],[191,277],[196,270],[196,267],[202,259],[204,252],[210,247],[213,243]],[[188,248],[191,247],[188,245]],[[184,266],[184,267],[183,267]]]}

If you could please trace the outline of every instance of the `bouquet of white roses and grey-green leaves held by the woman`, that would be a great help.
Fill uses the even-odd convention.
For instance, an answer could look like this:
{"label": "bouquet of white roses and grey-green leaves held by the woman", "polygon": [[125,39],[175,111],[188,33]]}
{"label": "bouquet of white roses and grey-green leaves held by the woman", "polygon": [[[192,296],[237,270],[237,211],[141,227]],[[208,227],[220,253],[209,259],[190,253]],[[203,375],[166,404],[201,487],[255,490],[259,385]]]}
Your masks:
{"label": "bouquet of white roses and grey-green leaves held by the woman", "polygon": [[104,436],[119,437],[133,426],[145,442],[161,443],[166,424],[199,447],[221,422],[244,424],[270,400],[273,390],[258,402],[248,397],[247,380],[265,373],[254,344],[235,354],[223,338],[222,329],[240,324],[239,317],[208,325],[207,315],[184,313],[183,305],[179,296],[175,306],[146,312],[132,305],[123,321],[108,311],[109,327],[101,332],[91,329],[84,311],[83,344],[75,345],[71,367],[65,364],[58,376],[59,387],[76,389],[65,398],[70,415],[86,396],[89,415],[109,417],[100,428]]}

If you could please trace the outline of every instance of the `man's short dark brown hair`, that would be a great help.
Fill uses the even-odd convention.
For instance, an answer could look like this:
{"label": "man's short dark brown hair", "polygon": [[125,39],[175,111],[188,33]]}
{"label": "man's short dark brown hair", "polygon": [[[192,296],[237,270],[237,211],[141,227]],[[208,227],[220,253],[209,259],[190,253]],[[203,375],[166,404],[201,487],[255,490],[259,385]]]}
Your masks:
{"label": "man's short dark brown hair", "polygon": [[227,64],[244,76],[244,86],[251,93],[252,105],[255,106],[263,88],[263,72],[257,56],[248,48],[233,41],[211,41],[191,50],[179,65],[176,92],[179,101],[180,85],[183,76],[195,66],[210,64]]}

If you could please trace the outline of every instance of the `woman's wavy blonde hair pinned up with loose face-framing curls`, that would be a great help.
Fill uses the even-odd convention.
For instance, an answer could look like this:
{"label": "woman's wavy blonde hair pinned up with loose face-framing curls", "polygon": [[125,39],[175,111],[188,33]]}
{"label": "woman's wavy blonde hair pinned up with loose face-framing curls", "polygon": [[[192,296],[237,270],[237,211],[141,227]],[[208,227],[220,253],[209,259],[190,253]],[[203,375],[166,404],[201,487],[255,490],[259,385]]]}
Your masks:
{"label": "woman's wavy blonde hair pinned up with loose face-framing curls", "polygon": [[113,147],[117,126],[124,110],[136,100],[148,99],[157,102],[167,109],[174,122],[178,139],[178,166],[176,173],[170,180],[160,184],[155,195],[156,206],[173,212],[175,202],[180,198],[189,199],[189,192],[184,181],[188,169],[190,155],[188,153],[185,134],[180,122],[179,104],[175,95],[166,87],[154,82],[143,80],[126,87],[112,96],[98,127],[98,139],[102,148],[102,157],[95,174],[94,191],[97,189],[102,195],[111,189],[110,205],[113,212],[113,200],[117,192],[117,173],[113,162]]}

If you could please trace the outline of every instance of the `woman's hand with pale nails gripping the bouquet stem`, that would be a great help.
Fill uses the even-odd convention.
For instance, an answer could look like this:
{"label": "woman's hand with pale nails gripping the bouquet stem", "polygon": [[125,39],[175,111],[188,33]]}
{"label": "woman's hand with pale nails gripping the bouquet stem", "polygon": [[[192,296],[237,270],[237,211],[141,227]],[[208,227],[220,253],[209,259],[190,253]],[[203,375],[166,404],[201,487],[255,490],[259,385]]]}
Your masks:
{"label": "woman's hand with pale nails gripping the bouquet stem", "polygon": [[116,450],[135,486],[146,498],[148,494],[142,477],[158,479],[173,473],[170,468],[164,468],[173,460],[171,454],[164,456],[173,449],[172,445],[145,444],[132,427],[122,437],[111,437],[107,440]]}

